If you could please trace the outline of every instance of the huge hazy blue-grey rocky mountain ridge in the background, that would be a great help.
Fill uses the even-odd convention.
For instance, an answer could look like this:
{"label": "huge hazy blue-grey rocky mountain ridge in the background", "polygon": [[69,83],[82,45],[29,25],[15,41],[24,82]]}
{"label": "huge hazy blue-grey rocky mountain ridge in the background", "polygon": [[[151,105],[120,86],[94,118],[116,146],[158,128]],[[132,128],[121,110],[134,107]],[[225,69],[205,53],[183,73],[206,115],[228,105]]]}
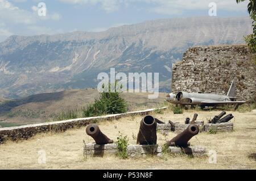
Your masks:
{"label": "huge hazy blue-grey rocky mountain ridge in the background", "polygon": [[0,96],[20,98],[42,92],[97,86],[97,75],[159,72],[170,89],[171,65],[194,45],[241,44],[251,33],[242,18],[152,20],[104,32],[11,36],[0,43]]}

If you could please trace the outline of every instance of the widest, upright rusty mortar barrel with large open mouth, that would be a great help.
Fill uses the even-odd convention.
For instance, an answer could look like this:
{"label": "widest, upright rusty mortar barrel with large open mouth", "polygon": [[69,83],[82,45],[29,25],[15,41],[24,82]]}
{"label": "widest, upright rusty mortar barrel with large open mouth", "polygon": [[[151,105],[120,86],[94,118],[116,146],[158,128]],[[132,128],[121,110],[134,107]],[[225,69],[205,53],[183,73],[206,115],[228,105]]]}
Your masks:
{"label": "widest, upright rusty mortar barrel with large open mouth", "polygon": [[156,144],[156,120],[154,117],[147,115],[141,120],[137,144],[155,145]]}

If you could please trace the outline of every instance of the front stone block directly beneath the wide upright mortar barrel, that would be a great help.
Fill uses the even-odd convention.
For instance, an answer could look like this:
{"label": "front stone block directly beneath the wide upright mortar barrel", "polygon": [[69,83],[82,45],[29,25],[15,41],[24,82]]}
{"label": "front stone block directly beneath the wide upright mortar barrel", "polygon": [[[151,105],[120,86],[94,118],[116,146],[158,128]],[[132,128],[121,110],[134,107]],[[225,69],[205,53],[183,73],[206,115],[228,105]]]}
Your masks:
{"label": "front stone block directly beneath the wide upright mortar barrel", "polygon": [[162,147],[158,145],[128,145],[127,154],[129,157],[141,157],[146,154],[160,156]]}

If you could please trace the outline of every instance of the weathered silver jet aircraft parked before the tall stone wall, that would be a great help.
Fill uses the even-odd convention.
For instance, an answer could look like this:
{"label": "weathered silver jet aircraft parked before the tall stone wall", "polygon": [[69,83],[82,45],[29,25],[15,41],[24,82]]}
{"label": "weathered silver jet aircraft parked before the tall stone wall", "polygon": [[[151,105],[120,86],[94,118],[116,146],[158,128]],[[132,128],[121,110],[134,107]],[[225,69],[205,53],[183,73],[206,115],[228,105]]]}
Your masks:
{"label": "weathered silver jet aircraft parked before the tall stone wall", "polygon": [[227,95],[218,95],[218,94],[203,94],[195,92],[174,92],[166,95],[167,102],[173,104],[181,105],[191,105],[191,106],[200,106],[204,108],[205,106],[224,106],[226,104],[234,104],[235,109],[239,105],[244,104],[245,101],[236,101],[234,97],[235,85],[234,79],[229,87]]}

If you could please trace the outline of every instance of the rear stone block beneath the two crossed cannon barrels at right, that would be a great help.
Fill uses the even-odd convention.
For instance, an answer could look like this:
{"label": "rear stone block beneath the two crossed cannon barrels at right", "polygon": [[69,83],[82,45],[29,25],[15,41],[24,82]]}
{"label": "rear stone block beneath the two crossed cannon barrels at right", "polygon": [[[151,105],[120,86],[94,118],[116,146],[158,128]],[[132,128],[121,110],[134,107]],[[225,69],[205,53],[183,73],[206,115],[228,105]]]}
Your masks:
{"label": "rear stone block beneath the two crossed cannon barrels at right", "polygon": [[234,124],[233,123],[219,123],[219,124],[205,124],[204,131],[209,132],[211,129],[217,132],[232,132]]}

